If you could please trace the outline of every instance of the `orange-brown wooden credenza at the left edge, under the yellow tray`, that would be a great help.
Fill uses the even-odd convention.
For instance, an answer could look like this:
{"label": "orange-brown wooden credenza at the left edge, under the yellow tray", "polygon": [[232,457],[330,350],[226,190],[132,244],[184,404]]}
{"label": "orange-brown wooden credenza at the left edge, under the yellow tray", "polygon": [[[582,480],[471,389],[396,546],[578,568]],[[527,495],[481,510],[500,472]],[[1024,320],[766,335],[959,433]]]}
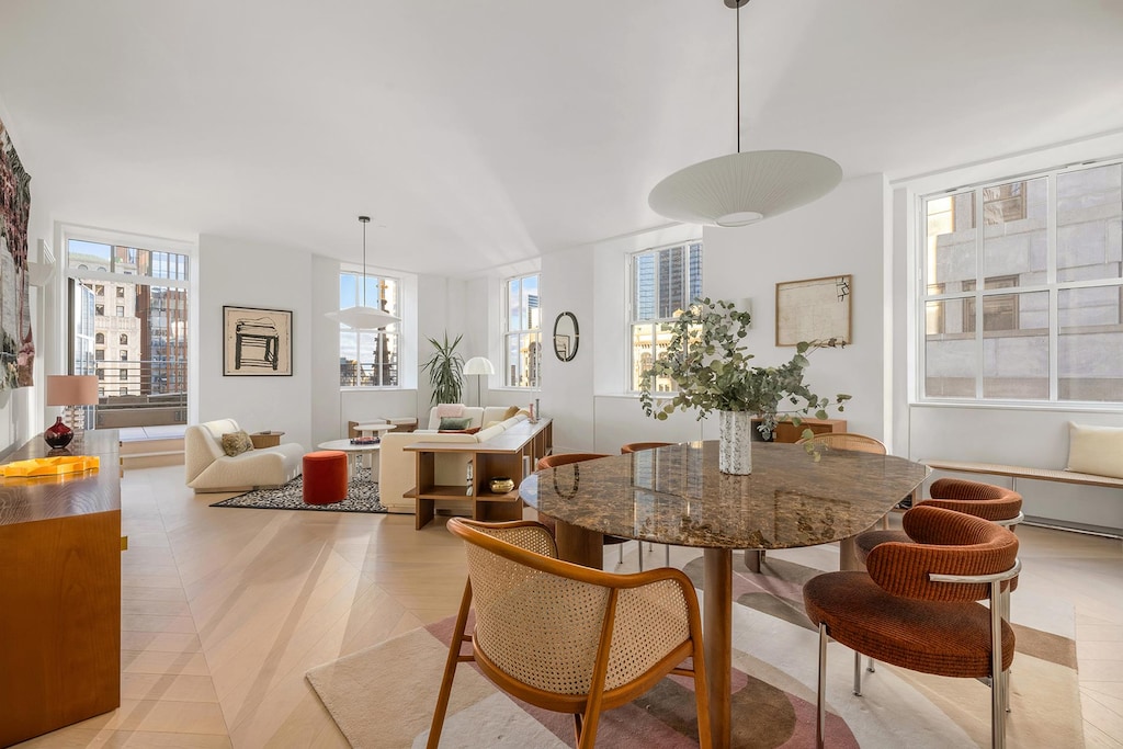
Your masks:
{"label": "orange-brown wooden credenza at the left edge, under the yellow tray", "polygon": [[[0,462],[48,449],[36,437]],[[97,455],[99,469],[0,477],[0,747],[121,703],[117,431],[88,431],[71,453]]]}

